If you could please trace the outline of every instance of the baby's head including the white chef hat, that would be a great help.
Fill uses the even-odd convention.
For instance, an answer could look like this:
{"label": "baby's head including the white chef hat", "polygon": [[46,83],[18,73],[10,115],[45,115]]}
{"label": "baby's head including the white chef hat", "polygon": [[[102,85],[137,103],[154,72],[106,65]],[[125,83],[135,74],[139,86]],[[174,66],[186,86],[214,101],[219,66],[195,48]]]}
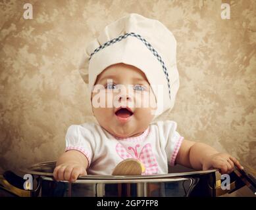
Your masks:
{"label": "baby's head including the white chef hat", "polygon": [[88,44],[79,70],[93,115],[117,137],[140,135],[174,106],[176,40],[157,20],[128,14],[109,24]]}

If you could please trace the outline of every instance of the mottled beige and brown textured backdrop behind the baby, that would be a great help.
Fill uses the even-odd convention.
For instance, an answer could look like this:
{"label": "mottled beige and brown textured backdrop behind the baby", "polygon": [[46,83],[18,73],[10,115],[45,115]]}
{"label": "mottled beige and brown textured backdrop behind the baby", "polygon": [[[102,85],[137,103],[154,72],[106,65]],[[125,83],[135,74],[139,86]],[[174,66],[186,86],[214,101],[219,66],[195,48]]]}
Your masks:
{"label": "mottled beige and brown textured backdrop behind the baby", "polygon": [[180,91],[168,118],[180,134],[256,169],[256,3],[225,2],[230,20],[220,18],[222,1],[0,1],[0,167],[55,160],[68,126],[93,120],[82,49],[135,12],[176,37]]}

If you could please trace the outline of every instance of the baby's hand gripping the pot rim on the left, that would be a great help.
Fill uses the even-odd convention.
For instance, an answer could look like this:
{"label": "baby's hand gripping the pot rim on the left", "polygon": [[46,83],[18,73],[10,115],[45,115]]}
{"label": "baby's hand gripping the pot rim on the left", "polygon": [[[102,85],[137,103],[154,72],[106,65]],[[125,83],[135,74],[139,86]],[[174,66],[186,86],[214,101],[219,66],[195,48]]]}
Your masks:
{"label": "baby's hand gripping the pot rim on the left", "polygon": [[58,165],[53,171],[55,180],[68,180],[68,182],[75,182],[80,175],[87,175],[86,168],[73,162]]}

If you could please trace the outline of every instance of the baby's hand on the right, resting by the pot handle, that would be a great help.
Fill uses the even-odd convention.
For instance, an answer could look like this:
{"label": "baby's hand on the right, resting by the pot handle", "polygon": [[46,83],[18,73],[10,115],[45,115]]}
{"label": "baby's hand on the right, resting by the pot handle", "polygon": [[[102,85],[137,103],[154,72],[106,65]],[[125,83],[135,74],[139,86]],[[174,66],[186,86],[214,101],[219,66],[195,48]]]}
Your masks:
{"label": "baby's hand on the right, resting by the pot handle", "polygon": [[225,153],[217,153],[207,156],[203,161],[203,170],[220,169],[221,174],[231,173],[234,170],[234,166],[243,169],[236,158]]}

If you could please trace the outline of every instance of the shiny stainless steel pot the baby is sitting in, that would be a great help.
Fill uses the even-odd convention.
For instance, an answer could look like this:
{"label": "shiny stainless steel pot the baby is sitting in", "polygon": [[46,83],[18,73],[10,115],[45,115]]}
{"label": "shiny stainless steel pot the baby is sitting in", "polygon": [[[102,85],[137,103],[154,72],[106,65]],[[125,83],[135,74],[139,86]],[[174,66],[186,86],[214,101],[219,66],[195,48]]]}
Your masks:
{"label": "shiny stainless steel pot the baby is sitting in", "polygon": [[[230,174],[230,190],[222,190],[217,170],[192,171],[186,173],[168,173],[166,175],[141,176],[99,176],[79,177],[74,183],[57,182],[53,179],[55,162],[45,162],[23,169],[33,175],[34,190],[22,190],[25,180],[9,172],[0,177],[0,188],[16,196],[221,196],[245,185],[236,173]],[[10,179],[10,176],[13,178]],[[15,177],[16,176],[16,177]],[[16,183],[12,184],[16,179]],[[17,180],[19,179],[19,180]],[[22,180],[21,180],[22,179]],[[254,183],[255,184],[255,183]],[[23,184],[24,185],[24,184]],[[26,186],[25,186],[26,187]],[[31,185],[27,186],[30,188]]]}

